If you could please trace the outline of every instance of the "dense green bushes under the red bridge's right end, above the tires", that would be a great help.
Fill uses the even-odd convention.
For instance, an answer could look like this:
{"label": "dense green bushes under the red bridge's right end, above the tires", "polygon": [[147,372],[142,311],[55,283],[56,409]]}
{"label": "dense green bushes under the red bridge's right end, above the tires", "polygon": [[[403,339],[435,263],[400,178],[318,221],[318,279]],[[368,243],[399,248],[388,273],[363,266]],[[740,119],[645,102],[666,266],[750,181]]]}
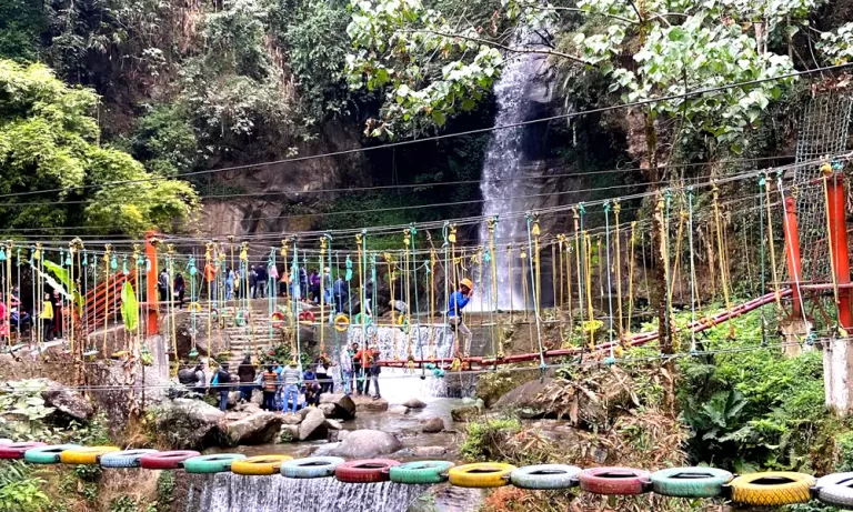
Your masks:
{"label": "dense green bushes under the red bridge's right end, above the tires", "polygon": [[731,352],[681,361],[682,419],[694,432],[689,449],[699,462],[740,472],[807,469],[830,418],[822,355],[757,349],[760,325],[760,312],[752,312],[736,322],[734,340],[726,327],[712,329],[700,350]]}

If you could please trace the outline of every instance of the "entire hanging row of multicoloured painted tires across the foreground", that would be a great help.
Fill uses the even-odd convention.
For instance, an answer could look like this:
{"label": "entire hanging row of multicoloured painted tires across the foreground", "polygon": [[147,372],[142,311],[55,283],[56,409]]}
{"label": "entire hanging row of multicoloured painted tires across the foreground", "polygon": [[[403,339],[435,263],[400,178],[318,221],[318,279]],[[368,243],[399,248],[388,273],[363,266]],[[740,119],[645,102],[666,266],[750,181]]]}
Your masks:
{"label": "entire hanging row of multicoloured painted tires across the foreground", "polygon": [[653,491],[678,498],[725,496],[747,505],[785,505],[812,498],[835,506],[853,505],[853,473],[835,473],[816,480],[804,473],[766,472],[733,479],[713,468],[675,468],[649,473],[632,468],[580,468],[562,464],[515,468],[502,463],[456,466],[446,461],[400,463],[389,459],[345,462],[335,456],[292,459],[289,455],[222,453],[200,455],[195,451],[126,450],[117,446],[79,446],[43,443],[0,444],[0,459],[23,459],[31,464],[100,464],[103,468],[183,469],[189,473],[231,471],[245,475],[281,473],[292,479],[334,476],[342,482],[398,482],[435,484],[450,481],[463,488],[552,490],[580,486],[604,495],[633,495]]}

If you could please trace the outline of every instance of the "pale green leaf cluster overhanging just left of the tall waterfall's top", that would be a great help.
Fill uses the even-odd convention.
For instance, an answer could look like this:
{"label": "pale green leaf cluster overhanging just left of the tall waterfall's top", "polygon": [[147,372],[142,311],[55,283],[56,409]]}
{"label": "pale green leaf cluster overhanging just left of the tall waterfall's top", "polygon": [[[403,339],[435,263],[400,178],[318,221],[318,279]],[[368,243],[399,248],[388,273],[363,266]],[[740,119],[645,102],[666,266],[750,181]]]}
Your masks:
{"label": "pale green leaf cluster overhanging just left of the tall waterfall's top", "polygon": [[[381,119],[369,120],[365,134],[393,138],[394,130],[417,134],[420,127],[443,127],[449,116],[482,102],[500,77],[498,49],[480,42],[472,27],[453,30],[441,12],[418,0],[362,0],[350,7],[350,87],[387,91]],[[432,62],[436,54],[440,68]]]}

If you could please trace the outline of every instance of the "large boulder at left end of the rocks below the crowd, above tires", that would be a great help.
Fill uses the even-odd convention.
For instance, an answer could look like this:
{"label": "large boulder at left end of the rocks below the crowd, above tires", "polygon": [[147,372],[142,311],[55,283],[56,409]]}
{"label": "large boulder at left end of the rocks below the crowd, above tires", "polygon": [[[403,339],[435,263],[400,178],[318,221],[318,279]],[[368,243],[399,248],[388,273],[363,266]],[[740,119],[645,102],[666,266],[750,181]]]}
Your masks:
{"label": "large boulder at left end of the rocks below the crowd, above tires", "polygon": [[171,450],[203,450],[218,441],[225,413],[201,400],[174,399],[152,410],[160,441]]}

